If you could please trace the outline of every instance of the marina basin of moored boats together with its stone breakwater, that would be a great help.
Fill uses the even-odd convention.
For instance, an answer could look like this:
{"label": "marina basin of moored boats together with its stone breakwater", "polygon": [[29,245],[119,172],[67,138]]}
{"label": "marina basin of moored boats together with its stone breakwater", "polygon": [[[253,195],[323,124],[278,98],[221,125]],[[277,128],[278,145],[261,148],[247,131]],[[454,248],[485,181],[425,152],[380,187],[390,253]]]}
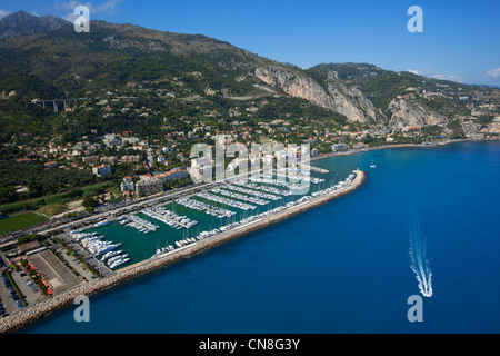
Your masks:
{"label": "marina basin of moored boats together with its stone breakwater", "polygon": [[[93,257],[99,257],[98,261],[111,274],[96,283],[83,284],[67,295],[91,295],[199,254],[347,194],[363,179],[364,175],[357,172],[331,188],[321,189],[316,185],[307,195],[293,195],[291,190],[286,190],[293,189],[296,184],[279,181],[276,176],[251,182],[240,180],[217,188],[209,187],[170,202],[159,201],[136,212],[110,216],[102,226],[93,224],[87,229],[70,231],[70,238]],[[226,207],[234,207],[237,211]],[[164,230],[162,224],[157,225],[153,220],[171,228]],[[142,235],[139,233],[148,234],[148,238],[139,238]],[[40,306],[46,305],[49,304]],[[62,301],[57,304],[58,307],[63,305]],[[57,307],[52,306],[51,310],[54,309]]]}

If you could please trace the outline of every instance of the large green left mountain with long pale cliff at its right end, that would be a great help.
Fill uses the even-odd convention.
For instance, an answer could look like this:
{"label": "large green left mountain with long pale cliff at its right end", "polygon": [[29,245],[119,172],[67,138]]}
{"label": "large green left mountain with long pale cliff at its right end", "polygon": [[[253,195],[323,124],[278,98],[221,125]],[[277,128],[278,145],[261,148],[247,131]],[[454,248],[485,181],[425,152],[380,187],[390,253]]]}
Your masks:
{"label": "large green left mountain with long pale cliff at its right end", "polygon": [[[26,18],[17,13],[12,17]],[[4,20],[0,20],[0,28],[6,27]],[[28,23],[32,20],[29,16],[24,19]],[[262,95],[297,97],[352,121],[374,119],[371,103],[340,81],[336,82],[339,90],[332,91],[302,69],[258,57],[228,42],[130,23],[91,21],[90,33],[61,27],[37,37],[14,37],[2,42],[0,61],[1,91],[23,92],[31,98],[80,96],[99,87],[199,72],[202,76],[191,78],[188,85],[200,96],[214,92],[234,99]],[[270,71],[279,77],[286,72],[292,81],[267,78]]]}

